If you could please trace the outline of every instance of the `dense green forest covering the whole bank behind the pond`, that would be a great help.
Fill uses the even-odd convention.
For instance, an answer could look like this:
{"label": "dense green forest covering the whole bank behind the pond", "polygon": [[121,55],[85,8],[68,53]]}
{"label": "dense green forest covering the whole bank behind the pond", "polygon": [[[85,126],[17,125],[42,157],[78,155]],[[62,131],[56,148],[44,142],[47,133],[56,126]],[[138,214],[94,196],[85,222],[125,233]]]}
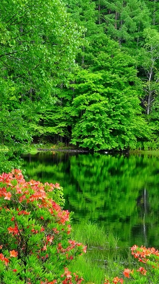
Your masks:
{"label": "dense green forest covering the whole bank behind the pond", "polygon": [[159,147],[158,0],[1,0],[0,148]]}

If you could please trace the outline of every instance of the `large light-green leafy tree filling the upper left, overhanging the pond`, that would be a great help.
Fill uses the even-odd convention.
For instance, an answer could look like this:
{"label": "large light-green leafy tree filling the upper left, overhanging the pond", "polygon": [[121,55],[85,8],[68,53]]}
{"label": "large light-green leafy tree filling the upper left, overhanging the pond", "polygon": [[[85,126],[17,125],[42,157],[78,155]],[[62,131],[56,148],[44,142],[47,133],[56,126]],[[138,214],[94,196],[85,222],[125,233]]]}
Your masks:
{"label": "large light-green leafy tree filling the upper left, overhanging the pond", "polygon": [[80,36],[60,0],[0,1],[1,144],[27,141],[36,131],[37,112],[54,103]]}

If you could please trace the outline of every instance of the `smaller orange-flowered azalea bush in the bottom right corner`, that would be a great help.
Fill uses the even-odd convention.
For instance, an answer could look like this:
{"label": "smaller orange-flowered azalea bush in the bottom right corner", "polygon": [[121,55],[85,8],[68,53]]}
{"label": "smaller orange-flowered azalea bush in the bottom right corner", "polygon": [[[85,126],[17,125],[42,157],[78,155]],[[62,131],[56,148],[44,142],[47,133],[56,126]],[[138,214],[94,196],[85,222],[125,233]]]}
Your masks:
{"label": "smaller orange-flowered azalea bush in the bottom right corner", "polygon": [[132,255],[142,266],[135,269],[126,268],[123,278],[115,277],[112,281],[105,280],[104,284],[159,284],[159,251],[154,248],[138,247],[131,248]]}

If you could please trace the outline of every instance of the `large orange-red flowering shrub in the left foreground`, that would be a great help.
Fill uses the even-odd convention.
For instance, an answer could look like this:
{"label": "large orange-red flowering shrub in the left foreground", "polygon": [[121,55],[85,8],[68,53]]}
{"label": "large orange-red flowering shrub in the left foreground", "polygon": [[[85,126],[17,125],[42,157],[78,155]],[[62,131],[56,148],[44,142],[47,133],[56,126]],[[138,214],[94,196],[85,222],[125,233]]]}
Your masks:
{"label": "large orange-red flowering shrub in the left foreground", "polygon": [[0,175],[0,284],[80,284],[67,266],[86,252],[70,240],[59,184],[26,182],[20,170]]}

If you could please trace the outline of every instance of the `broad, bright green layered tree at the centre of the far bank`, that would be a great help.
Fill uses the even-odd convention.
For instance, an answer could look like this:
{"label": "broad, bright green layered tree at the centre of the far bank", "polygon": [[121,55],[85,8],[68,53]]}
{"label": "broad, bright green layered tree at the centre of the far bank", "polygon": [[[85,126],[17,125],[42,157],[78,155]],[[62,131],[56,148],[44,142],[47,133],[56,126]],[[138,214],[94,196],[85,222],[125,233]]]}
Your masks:
{"label": "broad, bright green layered tree at the centre of the far bank", "polygon": [[73,144],[94,150],[127,149],[148,135],[140,116],[134,63],[106,35],[94,42],[88,70],[77,72],[72,84]]}

